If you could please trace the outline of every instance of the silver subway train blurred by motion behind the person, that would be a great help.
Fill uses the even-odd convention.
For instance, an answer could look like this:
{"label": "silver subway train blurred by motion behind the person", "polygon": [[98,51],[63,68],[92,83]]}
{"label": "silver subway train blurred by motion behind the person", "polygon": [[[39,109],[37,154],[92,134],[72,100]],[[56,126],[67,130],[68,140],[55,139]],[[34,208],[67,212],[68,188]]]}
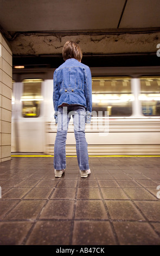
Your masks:
{"label": "silver subway train blurred by motion behind the person", "polygon": [[[53,72],[14,70],[12,154],[54,154]],[[88,154],[159,155],[159,67],[91,68],[91,73],[93,117],[86,125]],[[67,155],[76,155],[73,127],[71,120]]]}

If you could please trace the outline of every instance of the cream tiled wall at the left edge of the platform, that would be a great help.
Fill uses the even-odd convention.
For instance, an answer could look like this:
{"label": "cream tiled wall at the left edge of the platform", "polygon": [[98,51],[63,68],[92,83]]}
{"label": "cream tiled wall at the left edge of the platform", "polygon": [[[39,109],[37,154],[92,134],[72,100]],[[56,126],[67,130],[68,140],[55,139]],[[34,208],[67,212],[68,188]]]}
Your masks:
{"label": "cream tiled wall at the left edge of the platform", "polygon": [[12,52],[0,33],[0,162],[11,156]]}

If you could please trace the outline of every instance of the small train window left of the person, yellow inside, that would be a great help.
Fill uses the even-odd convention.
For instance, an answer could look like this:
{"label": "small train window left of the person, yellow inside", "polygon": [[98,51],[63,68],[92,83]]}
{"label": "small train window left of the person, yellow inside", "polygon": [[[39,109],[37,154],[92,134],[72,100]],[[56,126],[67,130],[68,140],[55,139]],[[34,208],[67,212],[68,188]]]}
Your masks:
{"label": "small train window left of the person, yellow inside", "polygon": [[23,80],[22,115],[25,118],[39,117],[43,97],[41,95],[41,79]]}

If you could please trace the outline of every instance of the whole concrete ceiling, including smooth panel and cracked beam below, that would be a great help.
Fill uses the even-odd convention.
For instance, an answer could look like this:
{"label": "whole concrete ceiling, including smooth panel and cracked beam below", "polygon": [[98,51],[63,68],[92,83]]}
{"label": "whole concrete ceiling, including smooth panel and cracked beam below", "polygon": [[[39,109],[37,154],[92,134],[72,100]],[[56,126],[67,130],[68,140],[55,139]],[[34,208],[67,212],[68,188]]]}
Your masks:
{"label": "whole concrete ceiling, including smooth panel and cracked beam below", "polygon": [[68,39],[92,55],[156,53],[160,43],[159,0],[0,0],[0,6],[13,56],[60,55]]}

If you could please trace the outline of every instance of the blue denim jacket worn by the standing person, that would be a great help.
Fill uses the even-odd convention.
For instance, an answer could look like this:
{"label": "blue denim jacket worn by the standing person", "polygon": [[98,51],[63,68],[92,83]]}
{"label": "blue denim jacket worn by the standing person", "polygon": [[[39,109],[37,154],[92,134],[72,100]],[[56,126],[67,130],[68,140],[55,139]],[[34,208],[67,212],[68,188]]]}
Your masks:
{"label": "blue denim jacket worn by the standing person", "polygon": [[91,70],[76,59],[67,59],[54,71],[54,117],[57,123],[58,107],[63,103],[86,108],[86,123],[91,123],[92,77]]}

